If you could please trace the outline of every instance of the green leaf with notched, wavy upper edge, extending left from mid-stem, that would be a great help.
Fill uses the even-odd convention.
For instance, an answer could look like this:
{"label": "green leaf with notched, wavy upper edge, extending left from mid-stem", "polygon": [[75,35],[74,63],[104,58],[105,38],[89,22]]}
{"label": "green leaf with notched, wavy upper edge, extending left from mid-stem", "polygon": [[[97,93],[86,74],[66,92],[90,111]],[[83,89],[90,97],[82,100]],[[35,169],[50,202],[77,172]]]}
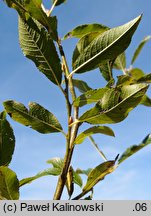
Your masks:
{"label": "green leaf with notched, wavy upper edge, extending left from mid-stem", "polygon": [[10,117],[39,133],[62,132],[62,127],[56,117],[37,103],[29,103],[29,110],[21,103],[8,100],[4,107]]}

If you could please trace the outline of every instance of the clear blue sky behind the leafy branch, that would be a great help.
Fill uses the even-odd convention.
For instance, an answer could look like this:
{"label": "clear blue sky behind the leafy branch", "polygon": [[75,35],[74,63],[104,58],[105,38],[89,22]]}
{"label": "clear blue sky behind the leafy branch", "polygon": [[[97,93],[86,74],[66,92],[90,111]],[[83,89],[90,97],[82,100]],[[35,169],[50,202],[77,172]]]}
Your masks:
{"label": "clear blue sky behind the leafy branch", "polygon": [[[49,7],[50,1],[44,2]],[[145,36],[151,35],[150,7],[151,3],[148,0],[68,0],[66,4],[56,8],[54,15],[58,16],[59,35],[63,37],[77,25],[101,23],[115,27],[143,13],[141,24],[127,50],[129,63],[138,43]],[[2,2],[0,7],[0,111],[3,110],[2,102],[8,99],[24,103],[26,106],[29,101],[35,101],[54,113],[61,124],[66,126],[64,98],[57,91],[57,87],[23,56],[19,47],[17,28],[16,12],[7,8]],[[70,69],[72,51],[76,42],[75,39],[63,42]],[[151,68],[150,52],[151,42],[144,47],[134,65],[142,68],[146,73],[149,73]],[[97,70],[75,77],[86,80],[93,88],[103,87],[105,84]],[[95,135],[94,138],[107,158],[114,159],[118,153],[121,154],[130,145],[140,143],[151,132],[150,116],[150,108],[139,106],[125,121],[110,125],[115,132],[115,138],[104,135]],[[16,135],[16,148],[11,168],[17,173],[19,179],[49,168],[46,160],[63,157],[65,141],[62,135],[39,134],[11,119],[9,121]],[[89,140],[75,148],[72,161],[75,168],[87,169],[101,162],[102,159]],[[94,199],[151,199],[150,164],[151,146],[148,146],[100,182],[95,187]],[[20,192],[21,199],[51,199],[56,180],[56,177],[44,177],[24,186]],[[79,188],[76,189],[78,193]],[[66,199],[65,194],[63,198]]]}

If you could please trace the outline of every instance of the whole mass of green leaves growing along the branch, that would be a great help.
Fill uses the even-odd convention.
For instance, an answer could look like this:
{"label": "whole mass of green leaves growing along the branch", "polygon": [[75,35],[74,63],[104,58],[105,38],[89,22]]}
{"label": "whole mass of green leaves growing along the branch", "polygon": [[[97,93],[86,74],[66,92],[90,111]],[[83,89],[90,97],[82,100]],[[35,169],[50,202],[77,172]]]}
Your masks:
{"label": "whole mass of green leaves growing along the branch", "polygon": [[[89,191],[93,191],[93,187],[124,160],[151,143],[151,135],[148,135],[139,145],[128,148],[119,159],[116,157],[115,160],[107,160],[92,137],[93,134],[114,136],[113,130],[104,124],[123,121],[139,104],[151,106],[151,99],[146,95],[151,74],[146,75],[141,69],[132,67],[150,36],[141,41],[132,57],[131,67],[126,69],[125,50],[142,16],[111,29],[102,24],[78,26],[63,38],[63,40],[79,38],[72,56],[72,71],[69,72],[61,40],[58,37],[57,17],[50,16],[55,6],[61,5],[65,0],[53,0],[50,10],[44,8],[42,0],[4,0],[4,2],[19,14],[19,41],[23,54],[32,60],[38,70],[63,93],[71,122],[66,133],[55,115],[35,102],[30,103],[29,108],[13,100],[3,103],[4,111],[0,113],[0,199],[19,199],[19,188],[23,185],[42,176],[63,174],[69,197],[74,191],[74,184],[77,184],[82,188],[82,192],[74,199],[80,199]],[[56,46],[59,48],[59,53]],[[107,81],[104,88],[93,89],[85,81],[73,79],[75,73],[81,74],[96,68]],[[114,69],[122,71],[123,75],[114,77]],[[63,76],[65,82],[62,82]],[[75,88],[82,93],[79,97],[75,95]],[[69,93],[72,101],[69,100]],[[91,109],[78,116],[80,107],[93,103]],[[74,114],[76,113],[74,119],[71,117],[72,110]],[[51,168],[19,181],[17,175],[8,167],[15,148],[15,136],[6,114],[39,133],[62,133],[67,140],[67,146],[70,147],[68,150],[71,149],[67,152],[69,154],[66,153],[67,158],[48,160],[52,165]],[[78,128],[84,123],[92,126],[78,134]],[[70,165],[74,146],[81,144],[87,137],[105,162],[93,169],[74,170]],[[84,186],[81,174],[87,176]]]}

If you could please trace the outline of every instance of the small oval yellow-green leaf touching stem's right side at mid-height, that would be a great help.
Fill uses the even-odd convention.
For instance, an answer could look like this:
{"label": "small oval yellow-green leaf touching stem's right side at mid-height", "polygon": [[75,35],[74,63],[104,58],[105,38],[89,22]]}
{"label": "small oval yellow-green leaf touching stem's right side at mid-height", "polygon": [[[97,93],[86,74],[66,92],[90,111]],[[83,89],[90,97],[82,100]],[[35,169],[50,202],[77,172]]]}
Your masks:
{"label": "small oval yellow-green leaf touching stem's right side at mid-height", "polygon": [[101,88],[97,90],[90,90],[86,93],[77,97],[73,105],[77,107],[82,107],[86,104],[96,103],[103,97],[104,93],[108,90],[108,88]]}

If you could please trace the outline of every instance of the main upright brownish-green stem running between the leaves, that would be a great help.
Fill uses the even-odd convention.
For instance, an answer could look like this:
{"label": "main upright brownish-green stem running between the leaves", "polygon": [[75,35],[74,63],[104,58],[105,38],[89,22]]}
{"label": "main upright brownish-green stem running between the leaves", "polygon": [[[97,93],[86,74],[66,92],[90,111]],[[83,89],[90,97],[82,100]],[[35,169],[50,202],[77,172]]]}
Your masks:
{"label": "main upright brownish-green stem running between the leaves", "polygon": [[[62,56],[62,64],[63,64],[63,71],[65,74],[65,84],[66,84],[66,104],[67,104],[67,110],[68,110],[68,121],[70,120],[71,117],[71,104],[69,102],[69,93],[68,93],[68,87],[71,93],[71,97],[72,100],[74,101],[76,98],[76,94],[75,94],[75,90],[74,90],[74,86],[73,86],[73,81],[72,81],[72,77],[70,77],[69,79],[67,79],[69,73],[69,68],[68,68],[68,64],[66,61],[66,57],[63,51],[63,47],[61,45],[61,42],[58,40],[58,47],[59,47],[59,51],[60,54]],[[74,121],[76,121],[76,119],[78,118],[78,112],[79,112],[79,108],[78,107],[73,107],[73,112],[74,112]],[[76,122],[74,124],[73,127],[70,126],[70,122],[68,123],[68,134],[66,137],[66,154],[64,157],[64,164],[63,164],[63,168],[62,168],[62,173],[59,176],[58,179],[58,183],[57,183],[57,187],[56,187],[56,191],[54,194],[53,199],[54,200],[59,200],[61,198],[65,183],[66,183],[66,178],[67,178],[67,173],[70,167],[70,163],[71,163],[71,159],[72,159],[72,154],[73,154],[73,150],[74,150],[74,141],[75,138],[77,136],[77,132],[78,132],[78,128],[79,128],[79,123]]]}

